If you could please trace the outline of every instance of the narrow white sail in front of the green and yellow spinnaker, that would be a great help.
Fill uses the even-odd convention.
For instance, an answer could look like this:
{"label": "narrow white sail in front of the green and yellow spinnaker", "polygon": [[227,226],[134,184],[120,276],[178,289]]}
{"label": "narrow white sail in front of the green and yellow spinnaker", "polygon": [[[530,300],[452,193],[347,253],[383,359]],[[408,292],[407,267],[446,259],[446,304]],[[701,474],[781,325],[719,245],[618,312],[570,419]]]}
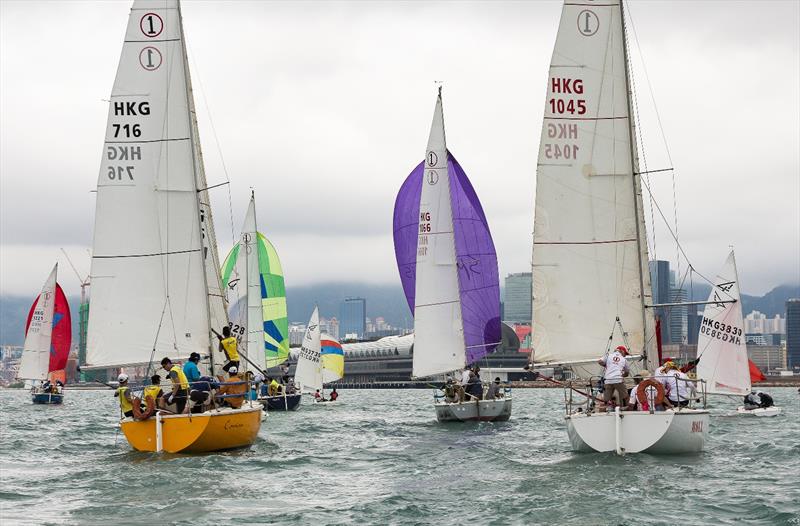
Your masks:
{"label": "narrow white sail in front of the green and yellow spinnaker", "polygon": [[242,245],[247,265],[247,358],[262,371],[267,368],[264,346],[264,306],[261,299],[261,272],[258,262],[258,229],[256,226],[256,201],[250,198],[242,227]]}

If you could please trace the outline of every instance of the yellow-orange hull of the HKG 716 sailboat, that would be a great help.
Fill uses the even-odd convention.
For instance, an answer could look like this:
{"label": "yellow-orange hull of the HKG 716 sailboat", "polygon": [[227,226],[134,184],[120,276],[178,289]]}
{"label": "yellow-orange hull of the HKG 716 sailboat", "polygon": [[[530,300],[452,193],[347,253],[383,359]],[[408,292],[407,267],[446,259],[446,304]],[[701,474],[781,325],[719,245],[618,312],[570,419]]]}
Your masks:
{"label": "yellow-orange hull of the HKG 716 sailboat", "polygon": [[[161,418],[162,450],[167,453],[206,453],[251,445],[261,427],[261,405],[220,409],[195,415],[164,415]],[[134,449],[157,451],[156,417],[120,422],[125,438]]]}

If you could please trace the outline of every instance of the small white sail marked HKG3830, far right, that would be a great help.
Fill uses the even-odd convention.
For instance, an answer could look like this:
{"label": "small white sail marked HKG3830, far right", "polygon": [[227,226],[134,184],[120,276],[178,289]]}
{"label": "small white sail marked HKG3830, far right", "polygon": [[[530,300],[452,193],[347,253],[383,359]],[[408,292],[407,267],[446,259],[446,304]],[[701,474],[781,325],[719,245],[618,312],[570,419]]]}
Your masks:
{"label": "small white sail marked HKG3830, far right", "polygon": [[[697,337],[697,377],[714,394],[750,392],[750,367],[745,346],[739,275],[733,252],[714,280],[714,288],[703,311]],[[732,303],[716,303],[732,301]]]}

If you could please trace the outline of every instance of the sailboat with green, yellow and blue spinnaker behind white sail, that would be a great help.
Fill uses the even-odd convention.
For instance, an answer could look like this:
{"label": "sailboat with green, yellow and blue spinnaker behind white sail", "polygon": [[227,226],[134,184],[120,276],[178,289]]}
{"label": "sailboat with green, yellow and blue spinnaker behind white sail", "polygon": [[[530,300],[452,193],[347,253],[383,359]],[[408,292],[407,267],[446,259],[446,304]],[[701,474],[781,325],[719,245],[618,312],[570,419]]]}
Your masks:
{"label": "sailboat with green, yellow and blue spinnaker behind white sail", "polygon": [[[228,299],[231,334],[239,339],[245,367],[265,378],[267,370],[289,358],[289,320],[283,268],[275,247],[258,232],[255,194],[242,226],[241,240],[222,264],[222,285]],[[267,408],[296,409],[300,395],[261,399]],[[274,407],[273,407],[274,406]]]}

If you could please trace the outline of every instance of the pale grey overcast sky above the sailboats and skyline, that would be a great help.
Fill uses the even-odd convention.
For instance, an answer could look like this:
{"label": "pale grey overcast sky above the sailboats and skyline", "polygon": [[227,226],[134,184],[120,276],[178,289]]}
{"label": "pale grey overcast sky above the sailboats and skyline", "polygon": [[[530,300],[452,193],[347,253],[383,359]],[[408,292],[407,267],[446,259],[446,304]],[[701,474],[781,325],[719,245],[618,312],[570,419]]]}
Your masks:
{"label": "pale grey overcast sky above the sailboats and skyline", "polygon": [[[800,281],[798,6],[629,10],[648,167],[675,168],[694,265],[713,276],[734,245],[750,294]],[[129,8],[0,1],[1,294],[35,294],[56,260],[77,294],[59,247],[89,271],[91,190]],[[501,276],[529,271],[560,11],[559,1],[184,2],[207,178],[226,180],[224,160],[231,181],[232,207],[227,187],[212,191],[221,257],[254,187],[288,286],[399,283],[392,207],[424,156],[443,81],[448,147],[483,203]],[[651,177],[672,222],[672,176]],[[662,225],[656,216],[655,255],[674,260]]]}

